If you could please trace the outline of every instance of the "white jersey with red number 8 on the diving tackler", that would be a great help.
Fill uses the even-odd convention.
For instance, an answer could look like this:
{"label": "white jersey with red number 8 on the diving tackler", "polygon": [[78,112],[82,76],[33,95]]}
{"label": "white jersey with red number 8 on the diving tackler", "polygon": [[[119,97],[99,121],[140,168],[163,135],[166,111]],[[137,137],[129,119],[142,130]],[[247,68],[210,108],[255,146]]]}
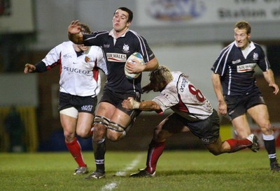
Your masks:
{"label": "white jersey with red number 8 on the diving tackler", "polygon": [[172,76],[172,82],[153,101],[162,112],[170,108],[190,121],[207,119],[213,113],[213,107],[202,91],[190,83],[188,76],[182,72],[172,72]]}

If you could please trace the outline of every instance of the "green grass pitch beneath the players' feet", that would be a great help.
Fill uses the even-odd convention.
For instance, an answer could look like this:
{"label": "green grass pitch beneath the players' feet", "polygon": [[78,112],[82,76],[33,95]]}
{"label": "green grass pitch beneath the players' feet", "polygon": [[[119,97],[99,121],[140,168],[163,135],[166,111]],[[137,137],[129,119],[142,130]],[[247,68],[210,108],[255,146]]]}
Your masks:
{"label": "green grass pitch beneath the players' feet", "polygon": [[[277,152],[279,153],[279,152]],[[278,156],[280,157],[280,155]],[[83,158],[90,171],[92,152]],[[208,151],[165,151],[153,178],[130,178],[146,166],[145,152],[106,153],[106,178],[84,179],[70,153],[0,153],[1,190],[279,190],[266,151],[214,156]],[[117,176],[119,175],[119,176]]]}

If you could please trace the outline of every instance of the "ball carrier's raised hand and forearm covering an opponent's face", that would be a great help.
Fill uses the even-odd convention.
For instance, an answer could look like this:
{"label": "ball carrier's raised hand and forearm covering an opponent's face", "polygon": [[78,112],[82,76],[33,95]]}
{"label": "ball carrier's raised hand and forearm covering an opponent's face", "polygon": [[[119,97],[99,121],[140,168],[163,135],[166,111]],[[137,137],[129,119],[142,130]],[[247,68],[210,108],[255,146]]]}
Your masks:
{"label": "ball carrier's raised hand and forearm covering an opponent's face", "polygon": [[68,38],[77,45],[83,45],[83,34],[80,33],[80,22],[74,20],[68,26]]}

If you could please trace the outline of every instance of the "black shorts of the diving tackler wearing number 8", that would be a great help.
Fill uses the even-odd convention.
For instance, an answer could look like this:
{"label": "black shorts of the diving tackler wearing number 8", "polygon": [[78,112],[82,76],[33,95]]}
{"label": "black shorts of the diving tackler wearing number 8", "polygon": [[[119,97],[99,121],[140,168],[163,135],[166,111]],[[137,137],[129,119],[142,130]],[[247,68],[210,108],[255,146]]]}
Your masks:
{"label": "black shorts of the diving tackler wearing number 8", "polygon": [[220,118],[215,109],[209,118],[202,121],[190,121],[182,116],[179,116],[179,120],[193,132],[193,135],[200,138],[203,144],[212,144],[220,136]]}

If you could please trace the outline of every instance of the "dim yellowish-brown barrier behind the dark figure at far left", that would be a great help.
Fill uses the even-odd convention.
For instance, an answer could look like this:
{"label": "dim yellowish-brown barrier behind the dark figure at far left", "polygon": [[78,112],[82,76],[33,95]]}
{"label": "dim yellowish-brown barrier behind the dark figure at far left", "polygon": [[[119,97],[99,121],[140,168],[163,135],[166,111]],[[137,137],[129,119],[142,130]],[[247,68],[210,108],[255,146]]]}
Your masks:
{"label": "dim yellowish-brown barrier behind the dark figure at far left", "polygon": [[[25,125],[24,142],[27,152],[36,152],[38,149],[38,129],[36,109],[30,106],[18,106],[22,123]],[[4,121],[10,112],[10,107],[0,107],[0,151],[8,151],[10,138],[4,130]]]}

